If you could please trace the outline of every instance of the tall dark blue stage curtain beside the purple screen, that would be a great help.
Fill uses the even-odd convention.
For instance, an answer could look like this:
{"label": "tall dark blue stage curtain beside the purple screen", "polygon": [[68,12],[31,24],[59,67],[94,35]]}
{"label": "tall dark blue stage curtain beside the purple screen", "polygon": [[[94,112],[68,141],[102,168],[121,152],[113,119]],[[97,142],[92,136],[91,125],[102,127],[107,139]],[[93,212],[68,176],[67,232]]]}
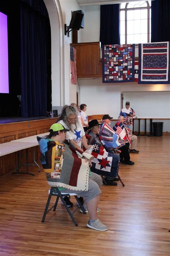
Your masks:
{"label": "tall dark blue stage curtain beside the purple screen", "polygon": [[[44,116],[47,110],[47,11],[43,0],[21,1],[22,117]],[[36,4],[36,5],[35,5]]]}

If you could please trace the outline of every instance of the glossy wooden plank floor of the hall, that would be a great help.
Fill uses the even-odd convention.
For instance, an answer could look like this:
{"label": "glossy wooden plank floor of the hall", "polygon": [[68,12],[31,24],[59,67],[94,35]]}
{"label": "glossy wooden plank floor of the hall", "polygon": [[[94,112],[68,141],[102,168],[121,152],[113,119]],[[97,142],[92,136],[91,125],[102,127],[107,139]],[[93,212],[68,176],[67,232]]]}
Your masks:
{"label": "glossy wooden plank floor of the hall", "polygon": [[88,214],[78,211],[74,226],[60,203],[41,223],[49,188],[42,169],[30,167],[34,177],[0,176],[0,256],[170,255],[169,149],[169,136],[138,137],[135,165],[120,166],[125,187],[101,188],[98,217],[106,232],[87,228]]}

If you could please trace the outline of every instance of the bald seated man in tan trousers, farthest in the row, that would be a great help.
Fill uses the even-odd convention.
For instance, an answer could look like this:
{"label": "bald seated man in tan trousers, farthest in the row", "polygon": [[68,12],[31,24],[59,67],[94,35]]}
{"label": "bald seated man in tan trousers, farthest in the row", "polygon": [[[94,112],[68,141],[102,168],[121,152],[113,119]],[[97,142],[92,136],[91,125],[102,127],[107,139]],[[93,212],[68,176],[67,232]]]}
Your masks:
{"label": "bald seated man in tan trousers, farthest in the row", "polygon": [[129,142],[129,140],[131,140],[131,144],[129,146],[130,149],[130,153],[139,153],[138,150],[136,150],[137,148],[137,136],[132,134],[132,131],[129,130],[125,125],[124,125],[124,121],[126,118],[124,118],[123,116],[119,116],[118,117],[118,122],[115,124],[115,126],[113,126],[113,130],[119,134],[119,136],[121,137],[121,139],[124,139],[125,142]]}

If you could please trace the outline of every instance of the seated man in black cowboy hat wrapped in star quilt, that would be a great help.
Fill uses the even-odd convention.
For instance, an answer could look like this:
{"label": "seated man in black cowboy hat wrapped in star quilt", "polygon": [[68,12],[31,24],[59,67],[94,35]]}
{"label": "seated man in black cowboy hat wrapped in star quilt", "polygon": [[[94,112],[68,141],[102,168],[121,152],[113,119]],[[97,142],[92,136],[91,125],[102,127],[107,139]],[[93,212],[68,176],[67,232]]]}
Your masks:
{"label": "seated man in black cowboy hat wrapped in star quilt", "polygon": [[90,132],[86,135],[88,139],[88,145],[93,145],[93,151],[91,154],[95,157],[91,160],[92,166],[90,170],[97,174],[106,176],[105,181],[108,185],[117,185],[114,180],[119,180],[115,178],[119,171],[119,156],[114,154],[109,148],[101,143],[99,137],[97,136],[100,130],[101,123],[94,119],[89,122]]}

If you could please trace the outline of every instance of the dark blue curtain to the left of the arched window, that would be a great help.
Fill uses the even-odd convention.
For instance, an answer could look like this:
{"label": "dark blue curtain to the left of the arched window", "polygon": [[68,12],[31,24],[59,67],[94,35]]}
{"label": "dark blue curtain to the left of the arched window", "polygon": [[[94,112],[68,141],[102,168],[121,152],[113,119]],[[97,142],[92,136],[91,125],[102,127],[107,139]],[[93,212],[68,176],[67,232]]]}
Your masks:
{"label": "dark blue curtain to the left of the arched window", "polygon": [[120,44],[119,4],[100,5],[100,42]]}

